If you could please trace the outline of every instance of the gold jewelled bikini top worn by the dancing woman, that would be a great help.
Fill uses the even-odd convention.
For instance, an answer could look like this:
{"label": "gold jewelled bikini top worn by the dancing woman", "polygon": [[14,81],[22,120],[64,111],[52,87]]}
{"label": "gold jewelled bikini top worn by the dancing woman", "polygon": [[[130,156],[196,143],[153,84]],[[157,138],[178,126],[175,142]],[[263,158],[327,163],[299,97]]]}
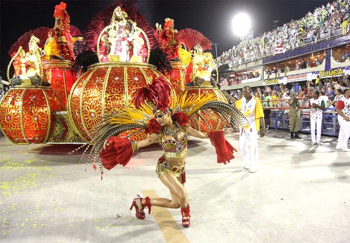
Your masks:
{"label": "gold jewelled bikini top worn by the dancing woman", "polygon": [[164,158],[169,162],[180,163],[182,158],[187,154],[187,130],[181,131],[184,132],[180,141],[175,141],[173,139],[166,139],[166,135],[161,131],[159,144],[164,150]]}

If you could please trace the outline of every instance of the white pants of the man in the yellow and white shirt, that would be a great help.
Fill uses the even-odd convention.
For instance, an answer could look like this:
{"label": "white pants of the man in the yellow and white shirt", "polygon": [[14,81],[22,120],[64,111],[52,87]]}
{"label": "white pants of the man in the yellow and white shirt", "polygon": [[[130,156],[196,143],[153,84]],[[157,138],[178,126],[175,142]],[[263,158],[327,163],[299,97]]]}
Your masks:
{"label": "white pants of the man in the yellow and white shirt", "polygon": [[[257,169],[257,162],[259,159],[259,151],[257,148],[257,131],[255,125],[250,125],[252,128],[251,133],[241,132],[239,134],[239,146],[242,153],[245,165],[250,165],[250,168]],[[250,156],[248,150],[248,142],[250,143]]]}

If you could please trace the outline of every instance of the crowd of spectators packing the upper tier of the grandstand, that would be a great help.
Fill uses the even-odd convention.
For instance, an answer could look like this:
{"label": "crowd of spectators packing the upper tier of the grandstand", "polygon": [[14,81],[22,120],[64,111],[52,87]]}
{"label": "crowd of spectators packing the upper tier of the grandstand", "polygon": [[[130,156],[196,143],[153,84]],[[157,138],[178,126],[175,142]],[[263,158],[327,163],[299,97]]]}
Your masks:
{"label": "crowd of spectators packing the upper tier of the grandstand", "polygon": [[[349,18],[349,3],[347,0],[341,1],[341,4],[334,3],[330,4],[329,9],[324,6],[317,7],[313,13],[308,12],[298,20],[291,20],[289,23],[284,23],[283,26],[264,32],[254,40],[242,41],[216,58],[216,64],[236,66],[242,62],[274,54],[276,46],[284,45],[288,49],[293,45],[294,48],[297,48],[303,44],[302,39],[304,38],[306,38],[306,43],[311,43],[318,33],[320,39],[340,34],[339,27],[345,26]],[[350,56],[348,59],[350,60]],[[311,65],[306,64],[306,67],[311,67]]]}

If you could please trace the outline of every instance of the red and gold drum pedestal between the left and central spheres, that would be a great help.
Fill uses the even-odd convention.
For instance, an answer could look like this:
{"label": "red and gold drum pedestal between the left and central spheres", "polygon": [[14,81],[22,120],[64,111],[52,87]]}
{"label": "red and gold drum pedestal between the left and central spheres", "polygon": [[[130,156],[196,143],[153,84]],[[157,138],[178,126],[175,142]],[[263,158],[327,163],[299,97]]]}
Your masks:
{"label": "red and gold drum pedestal between the left and central spheres", "polygon": [[71,87],[73,86],[76,76],[71,71],[73,63],[67,60],[50,60],[44,65],[44,72],[51,88],[56,92],[64,104],[64,110]]}

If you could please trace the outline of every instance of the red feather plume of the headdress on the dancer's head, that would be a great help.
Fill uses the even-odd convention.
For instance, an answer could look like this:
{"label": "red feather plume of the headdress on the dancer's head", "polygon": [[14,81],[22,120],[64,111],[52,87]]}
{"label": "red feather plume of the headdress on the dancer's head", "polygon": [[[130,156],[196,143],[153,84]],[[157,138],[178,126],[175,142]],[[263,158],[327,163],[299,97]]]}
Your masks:
{"label": "red feather plume of the headdress on the dancer's head", "polygon": [[163,76],[153,77],[152,83],[146,87],[139,88],[133,93],[132,102],[136,108],[148,101],[153,103],[155,101],[157,107],[167,108],[169,104],[169,97],[171,95],[171,86]]}

